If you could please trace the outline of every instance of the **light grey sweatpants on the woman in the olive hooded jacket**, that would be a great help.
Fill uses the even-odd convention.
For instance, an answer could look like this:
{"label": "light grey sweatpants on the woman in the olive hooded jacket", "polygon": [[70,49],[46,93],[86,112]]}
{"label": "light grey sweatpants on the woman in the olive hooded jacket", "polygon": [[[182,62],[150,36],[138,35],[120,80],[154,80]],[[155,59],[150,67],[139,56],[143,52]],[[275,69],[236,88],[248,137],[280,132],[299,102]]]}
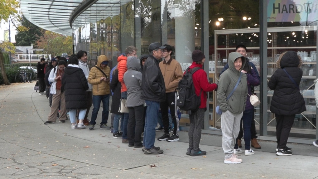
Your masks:
{"label": "light grey sweatpants on the woman in the olive hooded jacket", "polygon": [[225,159],[229,159],[233,155],[233,148],[235,139],[239,135],[239,125],[243,111],[241,114],[233,114],[229,110],[221,115],[221,128],[222,128],[222,148],[225,154]]}

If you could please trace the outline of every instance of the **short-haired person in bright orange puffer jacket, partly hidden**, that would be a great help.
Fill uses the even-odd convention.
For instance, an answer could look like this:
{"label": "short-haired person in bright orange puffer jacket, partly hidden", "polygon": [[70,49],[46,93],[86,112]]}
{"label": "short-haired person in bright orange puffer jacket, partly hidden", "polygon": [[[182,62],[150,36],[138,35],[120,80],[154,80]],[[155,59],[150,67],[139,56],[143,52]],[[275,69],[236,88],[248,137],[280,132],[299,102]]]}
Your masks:
{"label": "short-haired person in bright orange puffer jacket, partly hidden", "polygon": [[[126,55],[121,55],[117,58],[118,68],[118,80],[121,82],[121,99],[127,99],[127,88],[124,83],[124,74],[127,72],[127,58],[130,56],[137,57],[137,49],[134,46],[128,46],[125,50]],[[128,124],[128,113],[124,113],[124,122],[122,129],[122,143],[128,143],[127,139],[127,124]]]}

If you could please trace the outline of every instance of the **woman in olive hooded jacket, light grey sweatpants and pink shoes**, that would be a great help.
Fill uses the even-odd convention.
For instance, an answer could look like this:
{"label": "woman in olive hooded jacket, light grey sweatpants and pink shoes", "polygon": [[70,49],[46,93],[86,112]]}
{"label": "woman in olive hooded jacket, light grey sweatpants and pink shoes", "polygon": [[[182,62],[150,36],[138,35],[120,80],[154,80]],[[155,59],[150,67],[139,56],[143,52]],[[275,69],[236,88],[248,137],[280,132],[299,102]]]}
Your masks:
{"label": "woman in olive hooded jacket, light grey sweatpants and pink shoes", "polygon": [[239,135],[240,121],[246,106],[247,77],[242,73],[246,58],[238,52],[229,54],[229,68],[220,76],[218,84],[218,104],[221,114],[222,148],[224,163],[242,163],[233,153],[235,140]]}

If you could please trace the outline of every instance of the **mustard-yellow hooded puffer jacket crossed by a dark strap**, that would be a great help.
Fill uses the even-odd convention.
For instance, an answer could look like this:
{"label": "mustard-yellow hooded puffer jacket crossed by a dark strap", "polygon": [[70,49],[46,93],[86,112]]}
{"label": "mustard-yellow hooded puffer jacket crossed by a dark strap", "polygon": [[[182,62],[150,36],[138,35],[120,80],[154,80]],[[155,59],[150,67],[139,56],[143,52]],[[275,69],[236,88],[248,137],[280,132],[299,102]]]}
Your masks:
{"label": "mustard-yellow hooded puffer jacket crossed by a dark strap", "polygon": [[[108,61],[107,57],[105,55],[100,55],[97,59],[97,65],[106,75],[107,78],[109,78],[110,75],[110,68],[109,66],[106,66],[104,68],[100,67],[100,64],[103,61]],[[109,82],[100,81],[100,77],[103,77],[104,74],[99,71],[96,67],[93,67],[88,75],[88,83],[93,85],[93,95],[106,95],[110,94],[109,89]]]}

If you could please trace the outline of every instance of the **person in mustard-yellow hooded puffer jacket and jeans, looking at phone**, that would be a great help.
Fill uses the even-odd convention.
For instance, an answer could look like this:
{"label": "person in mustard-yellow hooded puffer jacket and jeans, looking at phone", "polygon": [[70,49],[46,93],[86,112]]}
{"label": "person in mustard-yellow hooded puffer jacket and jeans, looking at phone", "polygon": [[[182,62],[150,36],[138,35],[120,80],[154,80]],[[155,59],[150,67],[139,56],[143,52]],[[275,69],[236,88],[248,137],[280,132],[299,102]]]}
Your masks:
{"label": "person in mustard-yellow hooded puffer jacket and jeans, looking at phone", "polygon": [[110,129],[107,126],[108,114],[109,114],[109,75],[110,68],[108,65],[108,59],[105,55],[100,55],[97,59],[97,65],[95,65],[88,75],[88,83],[93,85],[93,111],[89,130],[93,130],[96,124],[96,118],[100,109],[100,102],[103,103],[103,112],[101,116],[100,129]]}

